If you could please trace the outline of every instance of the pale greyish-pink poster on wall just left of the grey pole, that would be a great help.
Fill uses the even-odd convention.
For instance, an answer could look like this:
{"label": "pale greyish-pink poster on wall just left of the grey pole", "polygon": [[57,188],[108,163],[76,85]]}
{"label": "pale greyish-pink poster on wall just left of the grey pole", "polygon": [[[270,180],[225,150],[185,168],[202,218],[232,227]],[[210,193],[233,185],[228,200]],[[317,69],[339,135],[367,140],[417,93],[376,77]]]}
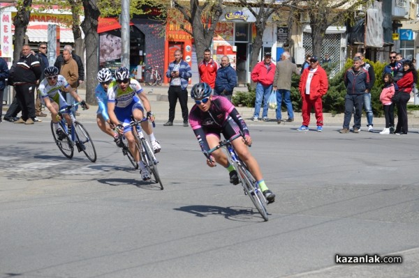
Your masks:
{"label": "pale greyish-pink poster on wall just left of the grey pole", "polygon": [[105,66],[106,62],[121,59],[122,54],[122,40],[118,36],[113,36],[110,33],[101,33],[99,62],[101,66]]}

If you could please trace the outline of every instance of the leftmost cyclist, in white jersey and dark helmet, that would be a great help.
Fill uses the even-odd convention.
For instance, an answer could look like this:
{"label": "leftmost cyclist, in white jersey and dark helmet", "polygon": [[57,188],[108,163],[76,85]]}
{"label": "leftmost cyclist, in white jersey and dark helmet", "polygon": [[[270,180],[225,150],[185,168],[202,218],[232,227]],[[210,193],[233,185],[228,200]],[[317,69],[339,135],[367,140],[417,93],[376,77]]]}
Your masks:
{"label": "leftmost cyclist, in white jersey and dark helmet", "polygon": [[[58,139],[62,140],[66,137],[61,128],[59,128],[59,116],[58,111],[67,107],[68,104],[66,100],[62,97],[61,91],[71,93],[73,98],[78,102],[81,102],[81,105],[84,109],[89,109],[89,105],[87,105],[80,95],[78,95],[73,88],[71,88],[70,84],[68,84],[66,78],[64,76],[59,75],[58,68],[52,66],[45,68],[44,70],[45,78],[40,82],[38,86],[38,93],[41,95],[41,103],[47,107],[48,110],[51,112],[52,122],[54,123],[55,132],[58,135]],[[64,118],[67,121],[68,126],[71,125],[71,117],[68,113],[62,113]]]}

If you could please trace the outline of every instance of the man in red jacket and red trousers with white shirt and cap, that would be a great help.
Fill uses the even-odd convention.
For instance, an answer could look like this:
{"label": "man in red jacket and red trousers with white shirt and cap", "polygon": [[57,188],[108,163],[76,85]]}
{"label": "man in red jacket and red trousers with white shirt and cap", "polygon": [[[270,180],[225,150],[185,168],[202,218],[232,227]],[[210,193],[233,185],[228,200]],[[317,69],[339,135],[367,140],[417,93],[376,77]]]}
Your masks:
{"label": "man in red jacket and red trousers with white shirt and cap", "polygon": [[328,92],[328,75],[318,64],[316,55],[311,56],[310,66],[301,75],[299,91],[302,98],[302,125],[298,131],[308,131],[311,107],[317,119],[317,131],[323,131],[323,102],[322,97]]}

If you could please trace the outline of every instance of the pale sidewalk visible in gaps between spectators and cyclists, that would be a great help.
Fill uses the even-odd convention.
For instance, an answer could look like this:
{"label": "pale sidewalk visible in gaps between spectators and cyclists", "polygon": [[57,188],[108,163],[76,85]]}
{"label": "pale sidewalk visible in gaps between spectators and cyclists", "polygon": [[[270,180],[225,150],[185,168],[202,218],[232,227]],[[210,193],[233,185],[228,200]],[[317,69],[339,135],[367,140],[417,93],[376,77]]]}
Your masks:
{"label": "pale sidewalk visible in gaps between spectators and cyclists", "polygon": [[[168,110],[169,110],[169,103],[168,103],[168,86],[142,86],[144,89],[144,93],[147,94],[147,98],[152,105],[152,111],[156,114],[156,123],[166,123],[168,121]],[[189,88],[190,89],[190,88]],[[247,87],[240,86],[236,87],[235,91],[247,91]],[[85,99],[86,90],[79,89],[79,95]],[[189,98],[188,107],[189,109],[193,106],[193,100]],[[253,118],[253,108],[251,107],[236,107],[237,111],[242,115],[242,117],[246,120],[248,125],[275,125],[277,126],[276,120],[276,113],[273,110],[268,111],[268,118],[270,121],[263,122],[253,122],[251,119]],[[3,116],[6,114],[8,109],[8,105],[3,105]],[[89,110],[80,110],[80,119],[85,119],[89,121],[93,121],[96,118],[96,111],[98,109],[97,105],[91,105]],[[45,112],[45,111],[44,111]],[[419,111],[413,111],[413,114],[409,114],[409,128],[419,128]],[[47,112],[45,112],[47,113]],[[47,113],[49,114],[49,113]],[[286,111],[282,112],[282,119],[286,120],[288,115]],[[41,118],[47,119],[47,118]],[[314,114],[311,114],[311,121],[310,126],[316,126],[316,117]],[[48,120],[49,121],[49,120]],[[332,115],[330,113],[323,114],[323,122],[325,126],[336,126],[341,127],[344,123],[344,114],[337,114]],[[395,118],[395,122],[397,123],[397,118]],[[182,111],[180,109],[180,105],[177,104],[176,106],[176,114],[175,114],[175,125],[182,125]],[[353,123],[353,119],[351,124]],[[367,123],[367,118],[362,116],[362,126],[365,127]],[[300,126],[302,124],[302,115],[301,112],[294,113],[294,121],[292,123],[284,123],[282,122],[281,125],[289,125],[289,126]],[[374,128],[379,130],[380,128],[384,128],[385,126],[385,118],[374,118]],[[415,130],[416,131],[416,130]]]}

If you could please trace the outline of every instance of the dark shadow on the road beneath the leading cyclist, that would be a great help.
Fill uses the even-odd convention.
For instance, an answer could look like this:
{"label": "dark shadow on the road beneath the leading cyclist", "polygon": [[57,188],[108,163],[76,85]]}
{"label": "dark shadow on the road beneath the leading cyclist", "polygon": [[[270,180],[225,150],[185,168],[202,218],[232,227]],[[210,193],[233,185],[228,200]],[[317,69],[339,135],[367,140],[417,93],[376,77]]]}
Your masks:
{"label": "dark shadow on the road beneath the leading cyclist", "polygon": [[180,208],[174,208],[174,210],[183,211],[185,213],[191,213],[197,217],[207,217],[210,215],[222,215],[226,219],[234,221],[249,222],[250,220],[264,221],[260,217],[259,213],[253,208],[242,208],[242,207],[227,207],[223,208],[220,206],[182,206]]}

